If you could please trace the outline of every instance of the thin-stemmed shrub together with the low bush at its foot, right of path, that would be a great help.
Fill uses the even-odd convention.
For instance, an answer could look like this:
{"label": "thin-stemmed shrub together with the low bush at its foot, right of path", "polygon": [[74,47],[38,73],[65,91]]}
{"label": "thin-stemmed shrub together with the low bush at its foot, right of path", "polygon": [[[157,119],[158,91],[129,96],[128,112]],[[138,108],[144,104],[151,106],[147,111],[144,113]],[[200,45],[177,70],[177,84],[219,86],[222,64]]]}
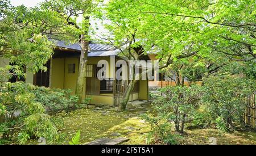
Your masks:
{"label": "thin-stemmed shrub together with the low bush at its foot, right of path", "polygon": [[157,117],[144,116],[152,125],[154,134],[160,134],[160,140],[170,141],[173,136],[171,128],[174,126],[179,134],[183,134],[184,126],[191,121],[193,113],[199,106],[202,95],[201,87],[172,86],[160,89],[163,96],[156,96],[153,109]]}

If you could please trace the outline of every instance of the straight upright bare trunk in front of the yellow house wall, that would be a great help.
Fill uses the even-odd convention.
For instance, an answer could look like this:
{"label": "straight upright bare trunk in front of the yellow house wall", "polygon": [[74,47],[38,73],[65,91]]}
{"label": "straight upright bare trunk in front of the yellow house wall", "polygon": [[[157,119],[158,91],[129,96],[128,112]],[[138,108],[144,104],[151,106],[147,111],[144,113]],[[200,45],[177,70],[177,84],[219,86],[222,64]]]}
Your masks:
{"label": "straight upright bare trunk in front of the yellow house wall", "polygon": [[[80,54],[80,62],[79,62],[79,74],[77,77],[76,83],[76,95],[79,97],[78,104],[82,103],[82,92],[85,90],[86,92],[86,66],[88,62],[88,49],[89,49],[89,41],[85,39],[84,35],[81,35],[81,54]],[[85,88],[84,88],[85,87]]]}

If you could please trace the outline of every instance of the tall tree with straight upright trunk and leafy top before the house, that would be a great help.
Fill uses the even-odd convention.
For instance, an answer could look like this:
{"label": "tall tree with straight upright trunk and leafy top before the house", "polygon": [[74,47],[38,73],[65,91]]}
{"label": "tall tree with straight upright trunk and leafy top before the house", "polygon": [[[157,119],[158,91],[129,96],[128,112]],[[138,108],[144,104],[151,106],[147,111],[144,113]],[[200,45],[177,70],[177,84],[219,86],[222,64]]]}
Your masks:
{"label": "tall tree with straight upright trunk and leafy top before the house", "polygon": [[[95,1],[96,2],[96,1]],[[93,12],[94,5],[91,0],[58,0],[58,1],[46,1],[42,4],[45,9],[50,9],[52,12],[62,16],[67,21],[69,26],[66,32],[71,35],[75,35],[79,39],[81,54],[79,63],[79,75],[76,83],[76,95],[79,96],[78,103],[82,102],[82,93],[86,89],[84,88],[86,83],[85,73],[86,65],[88,62],[88,50],[89,50],[89,27],[90,27],[90,16]],[[81,22],[77,18],[82,17]],[[69,42],[72,42],[71,38],[68,38]]]}

